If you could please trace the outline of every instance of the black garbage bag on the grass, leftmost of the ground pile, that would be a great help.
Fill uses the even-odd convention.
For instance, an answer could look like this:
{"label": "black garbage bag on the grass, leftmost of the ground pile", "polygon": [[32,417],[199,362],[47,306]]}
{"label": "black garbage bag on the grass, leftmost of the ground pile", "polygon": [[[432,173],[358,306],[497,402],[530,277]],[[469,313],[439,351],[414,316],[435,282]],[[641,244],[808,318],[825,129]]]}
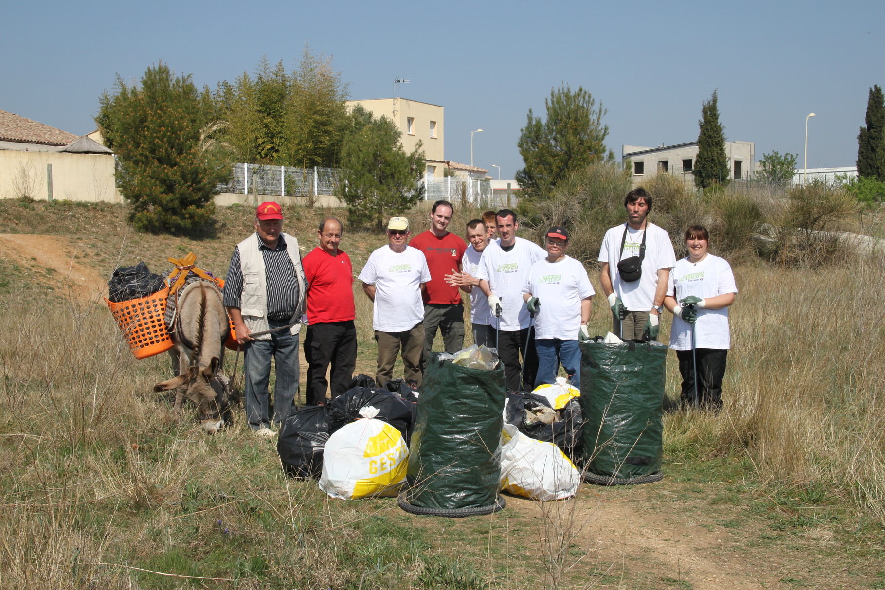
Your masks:
{"label": "black garbage bag on the grass, leftmost of the ground pile", "polygon": [[292,408],[282,422],[277,452],[283,469],[295,478],[316,478],[323,471],[329,440],[326,406]]}

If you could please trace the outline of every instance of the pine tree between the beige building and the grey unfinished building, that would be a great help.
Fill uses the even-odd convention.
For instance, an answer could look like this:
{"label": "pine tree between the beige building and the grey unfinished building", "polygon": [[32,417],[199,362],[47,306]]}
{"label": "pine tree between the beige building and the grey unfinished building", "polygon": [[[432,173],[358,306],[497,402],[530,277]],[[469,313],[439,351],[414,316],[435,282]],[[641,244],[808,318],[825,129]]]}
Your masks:
{"label": "pine tree between the beige building and the grey unfinished building", "polygon": [[543,200],[569,173],[613,159],[604,145],[609,131],[602,123],[606,111],[602,103],[596,108],[596,99],[587,90],[553,88],[544,106],[546,120],[528,110],[517,143],[526,167],[516,172],[516,180],[529,201]]}

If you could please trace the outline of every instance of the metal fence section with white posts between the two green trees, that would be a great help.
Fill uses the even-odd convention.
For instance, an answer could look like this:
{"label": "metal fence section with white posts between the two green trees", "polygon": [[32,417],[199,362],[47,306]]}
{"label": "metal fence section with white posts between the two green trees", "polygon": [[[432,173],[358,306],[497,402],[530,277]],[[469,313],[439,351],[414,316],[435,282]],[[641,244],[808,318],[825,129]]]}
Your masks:
{"label": "metal fence section with white posts between the two green trees", "polygon": [[295,168],[263,164],[235,164],[231,180],[219,184],[221,193],[249,195],[339,195],[340,173],[334,168]]}

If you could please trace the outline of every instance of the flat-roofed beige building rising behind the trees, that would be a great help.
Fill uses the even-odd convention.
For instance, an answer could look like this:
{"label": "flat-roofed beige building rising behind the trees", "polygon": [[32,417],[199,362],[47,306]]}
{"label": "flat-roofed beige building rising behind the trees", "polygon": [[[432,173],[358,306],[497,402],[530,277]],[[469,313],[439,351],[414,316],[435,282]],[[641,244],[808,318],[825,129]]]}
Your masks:
{"label": "flat-roofed beige building rising behind the trees", "polygon": [[[418,142],[427,158],[427,175],[443,178],[444,128],[443,107],[438,104],[421,103],[408,98],[374,98],[348,101],[348,107],[359,104],[375,117],[387,117],[403,134],[403,148],[412,151]],[[437,164],[432,164],[434,160]]]}

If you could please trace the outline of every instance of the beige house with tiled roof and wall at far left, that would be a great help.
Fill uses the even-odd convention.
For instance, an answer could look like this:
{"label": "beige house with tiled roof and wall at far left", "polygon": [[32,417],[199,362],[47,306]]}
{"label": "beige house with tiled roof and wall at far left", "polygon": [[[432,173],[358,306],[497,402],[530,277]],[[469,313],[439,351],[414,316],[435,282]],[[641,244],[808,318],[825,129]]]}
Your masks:
{"label": "beige house with tiled roof and wall at far left", "polygon": [[121,203],[114,168],[89,137],[0,111],[0,198]]}

